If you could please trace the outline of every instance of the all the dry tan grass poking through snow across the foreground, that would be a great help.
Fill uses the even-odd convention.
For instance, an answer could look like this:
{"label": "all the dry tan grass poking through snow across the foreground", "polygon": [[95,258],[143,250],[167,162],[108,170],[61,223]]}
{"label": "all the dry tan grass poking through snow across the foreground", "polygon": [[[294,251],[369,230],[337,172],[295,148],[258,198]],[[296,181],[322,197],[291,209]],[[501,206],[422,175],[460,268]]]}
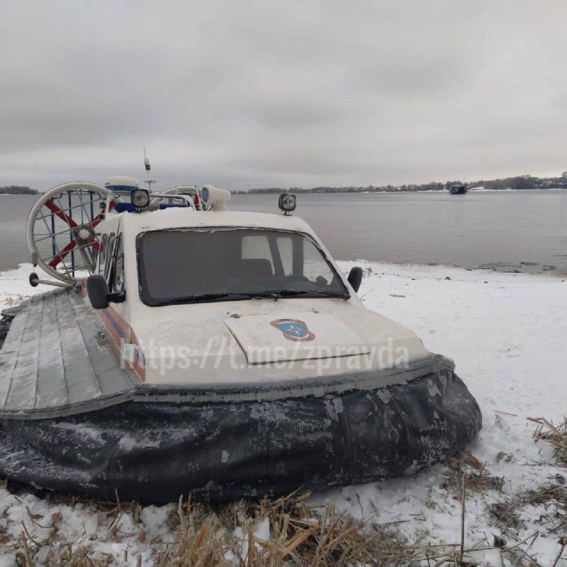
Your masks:
{"label": "all the dry tan grass poking through snow across the foreground", "polygon": [[[536,439],[550,442],[557,459],[563,459],[566,425],[554,427],[551,422],[537,420],[537,426]],[[461,541],[450,544],[432,545],[427,536],[407,541],[398,524],[381,525],[372,518],[356,520],[331,504],[310,506],[308,495],[297,494],[214,506],[180,498],[169,510],[160,535],[150,541],[140,520],[143,507],[138,503],[122,503],[118,495],[114,502],[100,502],[54,494],[48,497],[52,509],[81,505],[96,515],[96,533],[69,542],[60,512],[45,518],[27,509],[18,534],[0,529],[0,545],[13,550],[18,567],[32,567],[39,561],[45,567],[109,567],[127,562],[140,567],[150,562],[157,567],[466,567],[475,564],[475,552],[495,548],[512,566],[541,567],[531,550],[538,537],[546,537],[557,545],[552,567],[563,564],[567,546],[565,484],[558,479],[557,484],[517,493],[491,505],[487,528],[500,528],[500,535],[467,546],[466,500],[488,491],[500,493],[503,478],[492,476],[468,451],[450,459],[447,465],[442,486],[461,501],[462,510]],[[541,529],[525,537],[521,517],[529,506],[539,507]],[[116,542],[128,549],[127,541],[140,544],[134,549],[143,549],[144,558],[128,557],[127,551],[117,557],[116,552],[112,555],[106,551]]]}

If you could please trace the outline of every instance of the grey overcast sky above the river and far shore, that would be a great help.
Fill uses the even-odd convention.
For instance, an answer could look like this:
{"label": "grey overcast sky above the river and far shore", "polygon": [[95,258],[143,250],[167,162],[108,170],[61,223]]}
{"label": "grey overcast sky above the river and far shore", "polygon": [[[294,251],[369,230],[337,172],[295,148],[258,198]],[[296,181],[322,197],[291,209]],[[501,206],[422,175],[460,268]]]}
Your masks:
{"label": "grey overcast sky above the river and far shore", "polygon": [[0,0],[0,186],[567,169],[567,2]]}

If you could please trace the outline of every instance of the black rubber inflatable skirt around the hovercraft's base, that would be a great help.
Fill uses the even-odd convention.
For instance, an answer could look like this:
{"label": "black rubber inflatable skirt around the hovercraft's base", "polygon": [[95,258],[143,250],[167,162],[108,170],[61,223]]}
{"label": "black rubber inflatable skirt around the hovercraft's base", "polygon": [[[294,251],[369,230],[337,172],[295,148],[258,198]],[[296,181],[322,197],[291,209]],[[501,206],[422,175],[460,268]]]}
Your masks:
{"label": "black rubber inflatable skirt around the hovercraft's base", "polygon": [[264,401],[126,401],[0,421],[0,476],[94,498],[276,496],[415,473],[464,449],[482,417],[449,369],[408,383]]}

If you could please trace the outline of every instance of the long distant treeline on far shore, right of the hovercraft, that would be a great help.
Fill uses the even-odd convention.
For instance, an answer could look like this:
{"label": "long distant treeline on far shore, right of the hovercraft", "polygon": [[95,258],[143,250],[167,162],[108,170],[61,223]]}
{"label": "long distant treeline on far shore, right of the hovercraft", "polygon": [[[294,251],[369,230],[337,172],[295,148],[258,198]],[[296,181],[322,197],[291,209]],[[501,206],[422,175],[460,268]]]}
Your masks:
{"label": "long distant treeline on far shore, right of the hovercraft", "polygon": [[[388,192],[388,191],[446,191],[451,185],[461,184],[462,181],[431,181],[421,185],[369,185],[351,186],[351,187],[312,187],[311,189],[303,189],[301,187],[291,187],[290,189],[281,189],[280,187],[269,187],[262,189],[249,189],[249,191],[235,191],[235,193],[282,193],[290,191],[291,193],[369,193]],[[567,189],[567,172],[560,177],[532,177],[531,175],[520,175],[517,177],[505,177],[505,179],[480,179],[479,181],[470,181],[466,183],[469,189],[473,187],[483,187],[484,189],[493,189],[495,191],[503,191],[504,189]]]}

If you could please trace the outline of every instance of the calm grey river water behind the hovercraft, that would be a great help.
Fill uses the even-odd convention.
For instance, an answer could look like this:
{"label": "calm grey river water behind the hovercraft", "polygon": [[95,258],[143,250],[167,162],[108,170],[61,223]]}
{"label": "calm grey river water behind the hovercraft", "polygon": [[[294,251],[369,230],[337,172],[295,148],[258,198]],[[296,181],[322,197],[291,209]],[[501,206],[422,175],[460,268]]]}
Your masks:
{"label": "calm grey river water behind the hovercraft", "polygon": [[[25,224],[34,201],[0,196],[0,270],[30,261]],[[233,195],[229,204],[277,212],[276,195]],[[298,196],[296,214],[337,259],[567,272],[567,191],[310,194]]]}

